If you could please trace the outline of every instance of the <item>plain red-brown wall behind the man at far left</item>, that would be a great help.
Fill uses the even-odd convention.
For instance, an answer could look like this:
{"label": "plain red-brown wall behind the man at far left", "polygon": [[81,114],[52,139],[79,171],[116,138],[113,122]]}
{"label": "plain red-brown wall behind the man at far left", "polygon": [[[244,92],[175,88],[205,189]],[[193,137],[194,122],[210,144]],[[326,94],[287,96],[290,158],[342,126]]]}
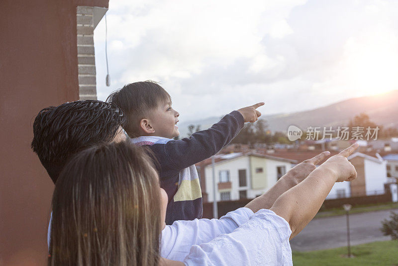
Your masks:
{"label": "plain red-brown wall behind the man at far left", "polygon": [[108,0],[0,3],[0,265],[43,265],[54,185],[30,149],[44,107],[79,98],[76,6]]}

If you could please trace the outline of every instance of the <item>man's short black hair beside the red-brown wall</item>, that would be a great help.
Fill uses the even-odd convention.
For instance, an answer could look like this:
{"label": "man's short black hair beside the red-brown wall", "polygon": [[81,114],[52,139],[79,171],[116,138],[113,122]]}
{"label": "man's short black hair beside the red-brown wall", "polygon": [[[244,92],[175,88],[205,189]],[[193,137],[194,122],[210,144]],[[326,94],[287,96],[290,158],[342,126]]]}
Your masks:
{"label": "man's short black hair beside the red-brown wall", "polygon": [[125,118],[114,104],[83,100],[44,108],[33,123],[31,147],[55,183],[75,153],[110,142]]}

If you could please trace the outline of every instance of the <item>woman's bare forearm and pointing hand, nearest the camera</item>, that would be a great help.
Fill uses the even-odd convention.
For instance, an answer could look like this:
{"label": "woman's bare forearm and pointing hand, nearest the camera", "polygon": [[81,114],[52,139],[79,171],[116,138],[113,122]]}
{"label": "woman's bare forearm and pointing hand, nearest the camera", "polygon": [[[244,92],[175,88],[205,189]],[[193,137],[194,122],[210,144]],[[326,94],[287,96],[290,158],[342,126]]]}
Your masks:
{"label": "woman's bare forearm and pointing hand, nearest the camera", "polygon": [[283,193],[271,207],[288,221],[294,238],[318,212],[335,182],[351,181],[357,172],[347,157],[358,148],[355,143],[330,157],[297,186]]}

